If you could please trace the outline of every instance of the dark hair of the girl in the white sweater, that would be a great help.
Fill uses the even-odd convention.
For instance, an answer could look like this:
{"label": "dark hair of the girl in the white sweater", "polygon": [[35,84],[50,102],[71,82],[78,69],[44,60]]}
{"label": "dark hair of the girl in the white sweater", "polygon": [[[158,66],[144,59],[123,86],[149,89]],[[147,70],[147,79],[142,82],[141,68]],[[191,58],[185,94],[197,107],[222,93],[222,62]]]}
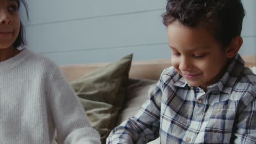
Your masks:
{"label": "dark hair of the girl in the white sweater", "polygon": [[[27,18],[29,19],[28,5],[25,2],[25,0],[17,0],[17,3],[18,3],[18,8],[19,9],[20,9],[20,4],[21,3],[24,5],[25,10],[26,10],[26,14],[27,14]],[[25,29],[24,29],[24,26],[23,26],[22,22],[20,21],[20,31],[19,31],[17,39],[13,43],[13,47],[15,49],[17,49],[19,46],[23,46],[23,45],[26,45],[26,44],[27,44],[27,41],[26,41],[26,36],[25,36]]]}

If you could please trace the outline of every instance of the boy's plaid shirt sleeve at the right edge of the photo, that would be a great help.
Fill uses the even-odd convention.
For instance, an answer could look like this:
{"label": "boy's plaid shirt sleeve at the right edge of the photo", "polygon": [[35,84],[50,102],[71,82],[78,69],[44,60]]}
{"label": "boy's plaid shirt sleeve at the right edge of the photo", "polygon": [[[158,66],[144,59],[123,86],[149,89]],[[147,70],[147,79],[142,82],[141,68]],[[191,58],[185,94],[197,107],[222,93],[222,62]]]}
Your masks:
{"label": "boy's plaid shirt sleeve at the right edge of the photo", "polygon": [[234,143],[256,143],[256,99],[238,115]]}

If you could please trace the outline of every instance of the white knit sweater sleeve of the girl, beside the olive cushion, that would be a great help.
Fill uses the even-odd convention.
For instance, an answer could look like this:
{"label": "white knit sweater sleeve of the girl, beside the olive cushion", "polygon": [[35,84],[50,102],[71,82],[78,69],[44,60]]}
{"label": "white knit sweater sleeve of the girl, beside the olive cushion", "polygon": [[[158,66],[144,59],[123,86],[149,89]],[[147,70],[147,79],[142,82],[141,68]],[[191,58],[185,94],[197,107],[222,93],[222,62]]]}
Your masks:
{"label": "white knit sweater sleeve of the girl, beside the olive cushion", "polygon": [[101,143],[99,133],[92,128],[81,102],[60,68],[53,75],[49,99],[58,143]]}

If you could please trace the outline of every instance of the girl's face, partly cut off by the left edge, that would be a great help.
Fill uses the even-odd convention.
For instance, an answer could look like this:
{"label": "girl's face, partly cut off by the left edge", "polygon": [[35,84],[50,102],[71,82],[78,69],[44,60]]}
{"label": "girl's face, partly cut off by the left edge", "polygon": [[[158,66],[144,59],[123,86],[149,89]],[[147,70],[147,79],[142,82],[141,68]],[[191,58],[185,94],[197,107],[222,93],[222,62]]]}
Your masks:
{"label": "girl's face, partly cut off by the left edge", "polygon": [[20,30],[18,3],[15,0],[0,1],[0,50],[13,47]]}

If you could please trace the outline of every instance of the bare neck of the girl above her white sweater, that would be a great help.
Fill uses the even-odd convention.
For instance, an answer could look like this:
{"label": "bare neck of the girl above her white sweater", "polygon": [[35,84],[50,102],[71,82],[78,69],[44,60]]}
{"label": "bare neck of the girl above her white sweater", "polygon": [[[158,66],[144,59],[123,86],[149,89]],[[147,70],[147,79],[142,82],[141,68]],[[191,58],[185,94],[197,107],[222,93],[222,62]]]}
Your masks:
{"label": "bare neck of the girl above her white sweater", "polygon": [[19,54],[21,51],[10,46],[6,49],[0,49],[0,61],[5,61]]}

